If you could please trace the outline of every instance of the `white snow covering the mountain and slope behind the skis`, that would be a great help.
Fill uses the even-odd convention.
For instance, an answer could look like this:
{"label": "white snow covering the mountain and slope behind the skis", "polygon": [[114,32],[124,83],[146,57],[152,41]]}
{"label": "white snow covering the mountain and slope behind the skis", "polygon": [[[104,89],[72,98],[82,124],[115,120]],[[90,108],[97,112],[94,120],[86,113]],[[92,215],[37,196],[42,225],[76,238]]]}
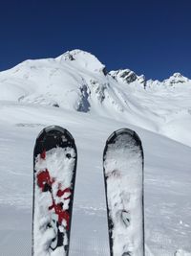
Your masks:
{"label": "white snow covering the mountain and slope behind the skis", "polygon": [[191,252],[191,81],[117,74],[80,50],[0,73],[0,255],[31,255],[32,151],[50,125],[78,151],[70,256],[109,255],[102,153],[117,128],[142,140],[146,255]]}

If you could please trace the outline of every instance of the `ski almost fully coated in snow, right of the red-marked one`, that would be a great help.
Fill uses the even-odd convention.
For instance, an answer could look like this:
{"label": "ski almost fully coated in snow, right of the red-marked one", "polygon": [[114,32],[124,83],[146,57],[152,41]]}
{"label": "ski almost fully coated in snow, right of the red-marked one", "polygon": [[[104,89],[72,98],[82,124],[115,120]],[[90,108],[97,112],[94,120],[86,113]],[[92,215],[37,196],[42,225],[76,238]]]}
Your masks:
{"label": "ski almost fully coated in snow, right of the red-marked one", "polygon": [[111,256],[144,256],[143,150],[138,134],[121,128],[103,152]]}

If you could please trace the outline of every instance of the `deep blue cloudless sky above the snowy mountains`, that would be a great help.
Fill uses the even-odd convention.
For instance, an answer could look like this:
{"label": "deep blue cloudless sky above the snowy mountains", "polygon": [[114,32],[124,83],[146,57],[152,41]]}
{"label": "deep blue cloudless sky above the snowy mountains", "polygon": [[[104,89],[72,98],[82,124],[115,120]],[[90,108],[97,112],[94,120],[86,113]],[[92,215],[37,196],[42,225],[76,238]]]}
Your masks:
{"label": "deep blue cloudless sky above the snowy mountains", "polygon": [[0,4],[0,70],[28,58],[82,49],[108,70],[191,78],[190,0],[6,0]]}

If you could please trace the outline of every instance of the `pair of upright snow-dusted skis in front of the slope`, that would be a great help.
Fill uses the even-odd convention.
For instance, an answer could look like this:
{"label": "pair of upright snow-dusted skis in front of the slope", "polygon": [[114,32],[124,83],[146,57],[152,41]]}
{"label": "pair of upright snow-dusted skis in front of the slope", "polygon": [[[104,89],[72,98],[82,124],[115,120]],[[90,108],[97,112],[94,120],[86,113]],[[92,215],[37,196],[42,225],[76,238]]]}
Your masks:
{"label": "pair of upright snow-dusted skis in front of the slope", "polygon": [[[32,256],[69,254],[77,151],[64,128],[44,128],[33,156]],[[106,141],[103,174],[111,256],[144,256],[143,151],[135,131]]]}

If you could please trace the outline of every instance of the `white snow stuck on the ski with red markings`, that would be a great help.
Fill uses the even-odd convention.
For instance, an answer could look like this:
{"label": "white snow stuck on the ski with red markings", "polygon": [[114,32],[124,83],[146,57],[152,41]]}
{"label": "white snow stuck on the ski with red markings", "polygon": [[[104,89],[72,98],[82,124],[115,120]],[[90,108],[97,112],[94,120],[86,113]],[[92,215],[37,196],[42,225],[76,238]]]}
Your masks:
{"label": "white snow stuck on the ski with red markings", "polygon": [[[63,140],[66,138],[63,138]],[[65,157],[66,154],[70,153],[71,158]],[[63,203],[62,209],[68,210],[70,203],[70,194],[65,193],[64,197],[56,197],[57,191],[63,191],[66,188],[71,188],[71,182],[73,178],[74,171],[74,157],[75,152],[72,148],[54,148],[53,150],[46,152],[46,158],[43,159],[40,157],[40,154],[35,159],[35,200],[34,200],[34,225],[33,225],[33,236],[34,236],[34,244],[33,244],[33,253],[35,256],[58,256],[66,255],[66,251],[64,247],[56,248],[53,251],[48,252],[49,244],[53,248],[56,246],[56,240],[53,239],[56,237],[56,224],[54,221],[58,221],[57,215],[55,215],[53,211],[48,211],[49,207],[60,202]],[[52,193],[45,192],[42,193],[41,188],[37,186],[37,175],[40,175],[42,172],[46,172],[48,170],[49,175],[54,182],[52,184]],[[52,198],[53,197],[53,198]],[[53,216],[54,214],[54,216]],[[53,221],[52,221],[53,220]],[[51,223],[52,228],[45,227]],[[66,221],[62,221],[59,228],[62,227],[62,233],[64,234],[64,244],[68,244],[68,237],[66,233]]]}

